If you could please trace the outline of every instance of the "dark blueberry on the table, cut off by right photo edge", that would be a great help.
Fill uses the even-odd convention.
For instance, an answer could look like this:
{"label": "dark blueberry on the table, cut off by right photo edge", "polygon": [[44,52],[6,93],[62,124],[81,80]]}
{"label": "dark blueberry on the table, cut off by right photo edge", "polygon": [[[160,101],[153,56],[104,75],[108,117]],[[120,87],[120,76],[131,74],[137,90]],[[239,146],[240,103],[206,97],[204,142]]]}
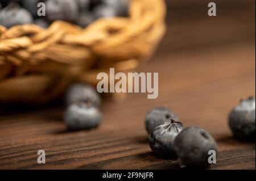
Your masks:
{"label": "dark blueberry on the table, cut off by right photo edge", "polygon": [[241,100],[229,113],[229,127],[234,137],[244,141],[255,140],[255,99]]}

